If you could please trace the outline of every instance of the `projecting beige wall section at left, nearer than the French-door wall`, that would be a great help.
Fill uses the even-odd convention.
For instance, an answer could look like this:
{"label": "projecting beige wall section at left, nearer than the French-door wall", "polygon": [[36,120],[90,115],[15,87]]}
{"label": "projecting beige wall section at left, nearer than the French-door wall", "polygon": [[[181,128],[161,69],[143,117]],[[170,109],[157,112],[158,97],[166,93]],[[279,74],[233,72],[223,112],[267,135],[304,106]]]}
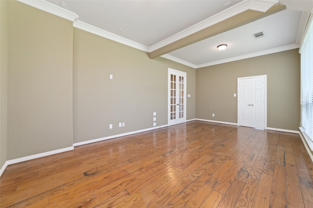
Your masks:
{"label": "projecting beige wall section at left, nearer than the French-door wall", "polygon": [[7,159],[71,147],[72,22],[7,6]]}

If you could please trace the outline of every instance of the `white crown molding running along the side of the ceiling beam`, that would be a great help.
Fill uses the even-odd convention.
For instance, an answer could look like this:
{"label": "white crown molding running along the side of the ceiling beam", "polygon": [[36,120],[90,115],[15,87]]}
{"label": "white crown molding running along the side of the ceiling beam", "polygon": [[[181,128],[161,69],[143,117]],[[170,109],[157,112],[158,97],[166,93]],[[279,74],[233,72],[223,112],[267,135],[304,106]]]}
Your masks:
{"label": "white crown molding running along the side of the ceiling beam", "polygon": [[172,42],[175,42],[181,38],[185,38],[191,34],[194,34],[198,31],[201,31],[207,27],[210,27],[218,22],[221,22],[225,19],[231,18],[235,15],[238,15],[246,10],[255,10],[260,12],[266,12],[269,8],[279,3],[278,0],[243,0],[232,7],[225,9],[224,11],[213,15],[210,18],[204,19],[203,21],[180,31],[179,33],[166,38],[153,46],[149,47],[149,53],[153,52],[159,48],[162,48]]}

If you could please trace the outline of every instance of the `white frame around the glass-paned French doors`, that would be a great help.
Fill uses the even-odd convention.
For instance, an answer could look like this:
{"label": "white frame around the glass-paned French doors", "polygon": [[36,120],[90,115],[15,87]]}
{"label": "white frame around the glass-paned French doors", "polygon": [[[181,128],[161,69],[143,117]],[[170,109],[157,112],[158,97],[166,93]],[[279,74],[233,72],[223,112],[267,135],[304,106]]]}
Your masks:
{"label": "white frame around the glass-paned French doors", "polygon": [[167,89],[168,89],[168,92],[167,92],[168,93],[167,94],[167,125],[168,126],[179,124],[179,123],[170,124],[170,121],[171,121],[171,72],[183,74],[183,76],[184,76],[183,121],[179,122],[179,123],[186,123],[186,120],[187,120],[186,119],[186,115],[187,115],[187,113],[186,113],[187,112],[187,98],[186,98],[186,95],[187,95],[187,92],[186,92],[187,91],[187,73],[176,70],[176,69],[168,68],[168,72],[167,72],[167,77],[168,77],[168,80],[167,80]]}

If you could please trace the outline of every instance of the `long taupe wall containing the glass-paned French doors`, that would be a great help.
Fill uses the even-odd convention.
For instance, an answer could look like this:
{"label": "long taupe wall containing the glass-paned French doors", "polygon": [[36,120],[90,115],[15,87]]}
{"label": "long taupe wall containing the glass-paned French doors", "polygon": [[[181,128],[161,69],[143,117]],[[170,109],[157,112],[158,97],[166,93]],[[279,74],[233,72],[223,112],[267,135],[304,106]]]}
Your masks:
{"label": "long taupe wall containing the glass-paned French doors", "polygon": [[195,69],[150,59],[143,51],[77,28],[73,56],[74,143],[152,128],[153,112],[156,126],[166,125],[168,68],[187,73],[187,119],[195,118]]}

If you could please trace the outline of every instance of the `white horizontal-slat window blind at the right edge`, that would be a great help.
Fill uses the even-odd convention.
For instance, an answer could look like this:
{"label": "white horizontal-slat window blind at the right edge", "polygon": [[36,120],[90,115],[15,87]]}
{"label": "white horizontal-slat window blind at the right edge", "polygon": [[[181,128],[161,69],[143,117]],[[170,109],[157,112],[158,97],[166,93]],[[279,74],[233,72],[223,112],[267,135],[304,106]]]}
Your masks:
{"label": "white horizontal-slat window blind at the right edge", "polygon": [[[313,149],[313,21],[312,17],[301,46],[301,127]],[[309,141],[309,140],[311,141]]]}

